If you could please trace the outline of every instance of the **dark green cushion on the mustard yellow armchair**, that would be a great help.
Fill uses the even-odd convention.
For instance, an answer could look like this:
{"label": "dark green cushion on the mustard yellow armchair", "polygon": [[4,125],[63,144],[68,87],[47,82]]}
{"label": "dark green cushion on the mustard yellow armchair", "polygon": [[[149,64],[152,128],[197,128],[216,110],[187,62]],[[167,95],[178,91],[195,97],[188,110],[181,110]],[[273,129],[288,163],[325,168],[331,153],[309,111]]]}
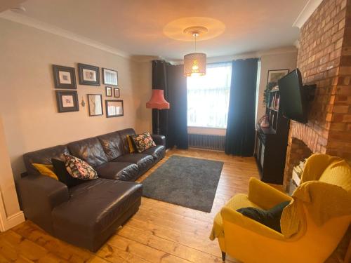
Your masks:
{"label": "dark green cushion on the mustard yellow armchair", "polygon": [[239,208],[237,212],[264,224],[275,231],[280,230],[280,217],[282,217],[283,209],[289,205],[290,201],[285,201],[270,208],[270,210],[262,210],[259,208]]}

